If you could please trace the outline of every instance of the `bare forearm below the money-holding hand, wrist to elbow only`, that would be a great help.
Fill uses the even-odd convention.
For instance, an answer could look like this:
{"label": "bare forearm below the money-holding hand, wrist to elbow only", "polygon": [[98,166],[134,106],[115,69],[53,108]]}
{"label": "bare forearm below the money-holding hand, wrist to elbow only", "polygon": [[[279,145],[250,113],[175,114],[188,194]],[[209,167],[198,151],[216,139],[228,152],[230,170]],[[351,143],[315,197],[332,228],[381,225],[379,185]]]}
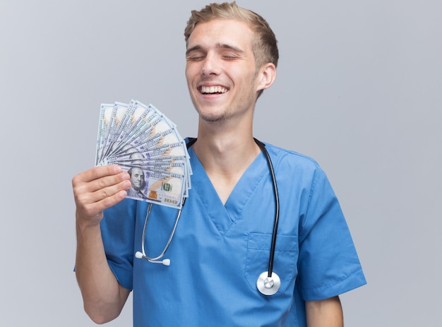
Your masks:
{"label": "bare forearm below the money-holding hand, wrist to elbow only", "polygon": [[76,278],[84,308],[96,323],[119,316],[129,290],[119,285],[104,254],[100,225],[77,222]]}

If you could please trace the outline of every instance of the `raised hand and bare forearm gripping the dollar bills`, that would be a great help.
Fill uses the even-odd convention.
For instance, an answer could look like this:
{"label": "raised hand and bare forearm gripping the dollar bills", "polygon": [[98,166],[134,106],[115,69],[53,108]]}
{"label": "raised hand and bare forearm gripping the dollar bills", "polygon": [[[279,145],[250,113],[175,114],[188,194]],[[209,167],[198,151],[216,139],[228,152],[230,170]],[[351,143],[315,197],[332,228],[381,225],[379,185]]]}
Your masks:
{"label": "raised hand and bare forearm gripping the dollar bills", "polygon": [[119,203],[131,187],[129,174],[119,166],[93,167],[72,179],[76,202],[76,277],[85,311],[96,323],[115,319],[129,290],[119,285],[107,263],[100,222],[103,210]]}

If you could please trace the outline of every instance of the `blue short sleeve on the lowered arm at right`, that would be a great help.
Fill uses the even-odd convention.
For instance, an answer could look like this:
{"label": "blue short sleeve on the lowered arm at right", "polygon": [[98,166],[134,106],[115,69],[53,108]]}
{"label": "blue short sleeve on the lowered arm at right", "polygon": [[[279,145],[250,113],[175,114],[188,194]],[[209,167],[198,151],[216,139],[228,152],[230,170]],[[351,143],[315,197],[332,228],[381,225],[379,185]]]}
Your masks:
{"label": "blue short sleeve on the lowered arm at right", "polygon": [[309,206],[300,221],[298,270],[299,292],[307,301],[366,284],[338,198],[321,169],[315,172]]}

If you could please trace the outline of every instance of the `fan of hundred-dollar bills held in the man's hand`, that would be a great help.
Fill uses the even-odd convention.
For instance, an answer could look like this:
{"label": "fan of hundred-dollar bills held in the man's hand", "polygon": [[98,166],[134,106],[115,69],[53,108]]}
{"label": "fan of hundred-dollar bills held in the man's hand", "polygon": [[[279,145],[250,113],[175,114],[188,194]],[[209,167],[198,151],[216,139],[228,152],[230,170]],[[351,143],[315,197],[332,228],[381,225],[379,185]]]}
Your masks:
{"label": "fan of hundred-dollar bills held in the man's hand", "polygon": [[131,175],[128,198],[181,208],[191,188],[186,142],[153,105],[102,104],[95,165],[119,165]]}

